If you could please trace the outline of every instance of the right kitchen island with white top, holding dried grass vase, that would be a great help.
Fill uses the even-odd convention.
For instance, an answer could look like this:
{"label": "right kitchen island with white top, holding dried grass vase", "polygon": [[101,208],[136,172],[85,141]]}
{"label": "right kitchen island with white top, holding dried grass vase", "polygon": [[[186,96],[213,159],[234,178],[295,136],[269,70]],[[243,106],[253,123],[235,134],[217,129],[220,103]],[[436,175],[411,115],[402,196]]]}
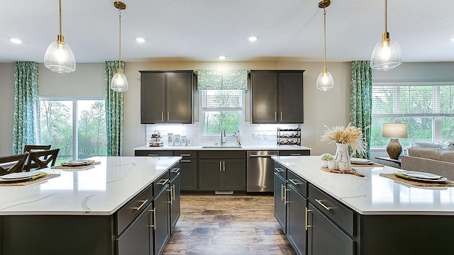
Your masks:
{"label": "right kitchen island with white top, holding dried grass vase", "polygon": [[[450,254],[454,187],[416,187],[356,168],[321,170],[320,157],[275,160],[275,215],[298,254]],[[278,183],[278,185],[276,185]]]}

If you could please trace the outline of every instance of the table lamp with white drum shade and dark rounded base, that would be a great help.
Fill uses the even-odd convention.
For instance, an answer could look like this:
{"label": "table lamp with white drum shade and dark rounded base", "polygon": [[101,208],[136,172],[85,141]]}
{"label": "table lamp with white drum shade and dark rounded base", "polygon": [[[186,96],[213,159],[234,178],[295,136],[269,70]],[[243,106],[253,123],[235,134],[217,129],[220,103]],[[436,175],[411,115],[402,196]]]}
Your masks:
{"label": "table lamp with white drum shade and dark rounded base", "polygon": [[383,123],[382,137],[389,137],[389,143],[386,151],[391,159],[399,159],[402,152],[402,146],[399,138],[406,138],[406,123]]}

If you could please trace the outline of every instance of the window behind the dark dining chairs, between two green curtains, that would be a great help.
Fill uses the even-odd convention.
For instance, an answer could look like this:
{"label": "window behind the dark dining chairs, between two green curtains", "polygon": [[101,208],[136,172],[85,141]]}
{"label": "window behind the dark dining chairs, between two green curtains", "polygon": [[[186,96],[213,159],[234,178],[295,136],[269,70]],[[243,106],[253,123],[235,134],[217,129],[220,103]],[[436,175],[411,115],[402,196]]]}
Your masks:
{"label": "window behind the dark dining chairs, between two green curtains", "polygon": [[40,98],[41,144],[60,148],[59,162],[107,155],[104,98]]}

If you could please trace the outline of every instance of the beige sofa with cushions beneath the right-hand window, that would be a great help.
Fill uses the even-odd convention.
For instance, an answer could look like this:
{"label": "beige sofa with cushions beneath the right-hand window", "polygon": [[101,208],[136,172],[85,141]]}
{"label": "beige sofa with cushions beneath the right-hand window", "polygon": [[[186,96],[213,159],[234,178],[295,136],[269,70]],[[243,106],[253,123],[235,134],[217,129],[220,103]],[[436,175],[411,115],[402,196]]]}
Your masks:
{"label": "beige sofa with cushions beneath the right-hand window", "polygon": [[423,171],[454,181],[453,142],[413,142],[402,156],[401,169]]}

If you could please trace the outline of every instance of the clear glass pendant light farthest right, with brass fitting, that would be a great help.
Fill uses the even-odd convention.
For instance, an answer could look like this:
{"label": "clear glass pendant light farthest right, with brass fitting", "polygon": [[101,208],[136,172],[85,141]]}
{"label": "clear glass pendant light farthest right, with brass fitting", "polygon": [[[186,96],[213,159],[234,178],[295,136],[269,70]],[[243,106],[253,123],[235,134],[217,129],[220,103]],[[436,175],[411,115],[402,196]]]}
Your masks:
{"label": "clear glass pendant light farthest right, with brass fitting", "polygon": [[379,71],[394,69],[402,64],[402,49],[396,40],[389,38],[387,31],[388,0],[384,0],[384,33],[370,56],[370,67]]}

